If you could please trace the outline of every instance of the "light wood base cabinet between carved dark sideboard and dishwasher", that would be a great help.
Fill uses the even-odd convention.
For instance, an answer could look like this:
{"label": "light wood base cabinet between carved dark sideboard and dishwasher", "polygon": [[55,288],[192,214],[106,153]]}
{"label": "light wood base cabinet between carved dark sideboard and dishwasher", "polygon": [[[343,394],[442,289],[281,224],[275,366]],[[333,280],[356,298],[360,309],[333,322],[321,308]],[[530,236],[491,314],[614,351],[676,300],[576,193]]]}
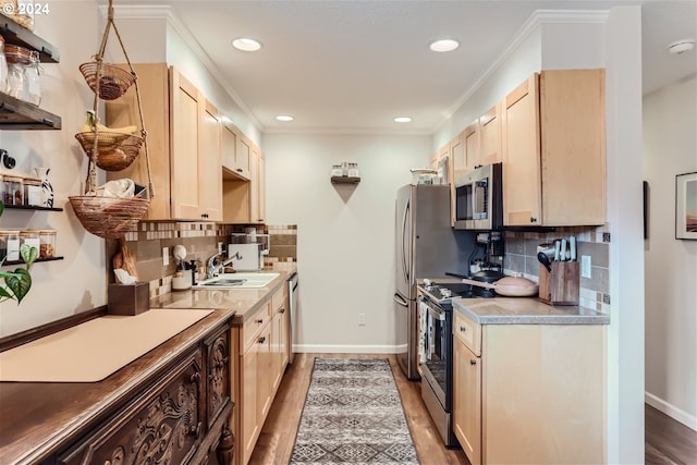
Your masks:
{"label": "light wood base cabinet between carved dark sideboard and dishwasher", "polygon": [[[235,465],[249,462],[288,366],[288,290],[277,291],[241,327],[233,328],[236,372]],[[236,388],[236,389],[235,389]]]}

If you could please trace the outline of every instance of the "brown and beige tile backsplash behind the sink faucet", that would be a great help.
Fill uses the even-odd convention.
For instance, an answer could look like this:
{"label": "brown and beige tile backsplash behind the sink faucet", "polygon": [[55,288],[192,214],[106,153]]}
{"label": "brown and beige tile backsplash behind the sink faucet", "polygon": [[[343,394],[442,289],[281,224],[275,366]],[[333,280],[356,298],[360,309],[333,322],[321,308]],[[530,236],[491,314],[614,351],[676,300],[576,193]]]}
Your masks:
{"label": "brown and beige tile backsplash behind the sink faucet", "polygon": [[[250,228],[257,234],[268,234],[270,237],[269,255],[265,256],[265,266],[278,261],[296,261],[297,259],[297,227],[295,224],[219,224],[209,222],[148,222],[138,224],[137,231],[125,235],[126,246],[136,257],[138,281],[148,282],[150,297],[171,292],[172,277],[176,272],[176,262],[171,256],[175,245],[186,248],[186,261],[198,260],[204,270],[208,258],[218,252],[218,243],[227,244],[233,233],[245,233]],[[170,262],[162,264],[162,248],[169,248]],[[107,241],[107,256],[113,257],[118,249],[117,241]],[[109,260],[110,281],[113,281]],[[201,274],[203,277],[203,274]]]}

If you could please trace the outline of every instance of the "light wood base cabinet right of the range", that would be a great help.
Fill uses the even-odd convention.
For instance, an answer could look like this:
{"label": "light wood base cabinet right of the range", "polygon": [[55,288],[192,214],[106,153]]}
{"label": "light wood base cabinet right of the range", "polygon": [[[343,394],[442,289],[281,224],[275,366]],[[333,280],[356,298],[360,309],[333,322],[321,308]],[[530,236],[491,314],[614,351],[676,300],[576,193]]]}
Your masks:
{"label": "light wood base cabinet right of the range", "polygon": [[604,463],[603,326],[454,317],[453,423],[473,465]]}

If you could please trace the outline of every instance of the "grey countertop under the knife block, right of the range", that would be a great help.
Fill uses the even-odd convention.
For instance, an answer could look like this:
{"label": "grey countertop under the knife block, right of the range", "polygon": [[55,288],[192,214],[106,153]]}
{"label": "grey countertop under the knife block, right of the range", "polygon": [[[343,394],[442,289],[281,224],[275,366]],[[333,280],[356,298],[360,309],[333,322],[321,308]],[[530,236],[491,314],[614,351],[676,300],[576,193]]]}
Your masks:
{"label": "grey countertop under the knife block, right of the range", "polygon": [[453,298],[453,308],[479,325],[609,325],[610,316],[531,297]]}

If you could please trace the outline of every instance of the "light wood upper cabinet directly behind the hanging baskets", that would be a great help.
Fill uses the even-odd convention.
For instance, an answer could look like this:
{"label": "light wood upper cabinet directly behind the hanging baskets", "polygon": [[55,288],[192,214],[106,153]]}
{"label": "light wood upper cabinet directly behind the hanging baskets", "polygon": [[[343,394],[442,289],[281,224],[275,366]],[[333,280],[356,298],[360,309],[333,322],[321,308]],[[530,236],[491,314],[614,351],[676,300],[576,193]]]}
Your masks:
{"label": "light wood upper cabinet directly behind the hanging baskets", "polygon": [[[124,66],[125,68],[125,66]],[[148,132],[155,197],[145,220],[222,220],[220,115],[204,95],[166,63],[134,64]],[[139,125],[135,88],[106,102],[109,126]],[[108,179],[131,178],[147,185],[140,156]]]}

